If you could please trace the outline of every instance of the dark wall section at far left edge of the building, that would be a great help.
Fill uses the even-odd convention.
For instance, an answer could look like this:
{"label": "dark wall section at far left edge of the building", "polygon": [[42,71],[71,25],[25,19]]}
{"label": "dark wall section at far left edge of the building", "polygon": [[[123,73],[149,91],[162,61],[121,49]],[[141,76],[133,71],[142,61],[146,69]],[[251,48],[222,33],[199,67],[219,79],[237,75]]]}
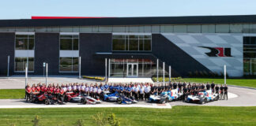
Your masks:
{"label": "dark wall section at far left edge of the building", "polygon": [[14,71],[14,40],[15,33],[0,33],[0,75],[6,76],[7,73],[7,58],[9,55],[9,74]]}

